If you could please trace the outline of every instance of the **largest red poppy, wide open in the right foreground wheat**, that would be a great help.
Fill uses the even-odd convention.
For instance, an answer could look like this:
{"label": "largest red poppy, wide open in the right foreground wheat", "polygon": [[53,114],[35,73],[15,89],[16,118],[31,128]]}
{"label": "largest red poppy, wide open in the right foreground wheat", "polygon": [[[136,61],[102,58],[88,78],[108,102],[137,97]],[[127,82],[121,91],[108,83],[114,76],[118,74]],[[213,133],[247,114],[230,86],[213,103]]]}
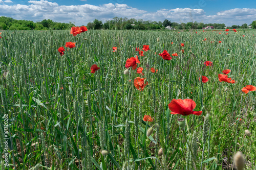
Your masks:
{"label": "largest red poppy, wide open in the right foreground wheat", "polygon": [[172,102],[168,104],[171,114],[181,114],[187,116],[189,114],[201,115],[203,111],[193,111],[196,108],[196,102],[192,99],[173,99]]}

